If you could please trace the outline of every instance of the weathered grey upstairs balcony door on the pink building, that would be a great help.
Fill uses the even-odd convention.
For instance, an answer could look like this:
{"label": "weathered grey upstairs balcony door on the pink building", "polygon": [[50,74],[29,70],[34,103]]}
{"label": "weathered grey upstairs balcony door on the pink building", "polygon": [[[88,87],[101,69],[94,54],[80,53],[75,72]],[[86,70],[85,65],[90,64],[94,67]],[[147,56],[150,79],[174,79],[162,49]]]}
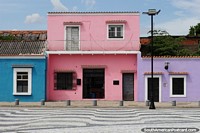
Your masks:
{"label": "weathered grey upstairs balcony door on the pink building", "polygon": [[79,27],[70,26],[66,27],[66,50],[78,51],[79,50]]}

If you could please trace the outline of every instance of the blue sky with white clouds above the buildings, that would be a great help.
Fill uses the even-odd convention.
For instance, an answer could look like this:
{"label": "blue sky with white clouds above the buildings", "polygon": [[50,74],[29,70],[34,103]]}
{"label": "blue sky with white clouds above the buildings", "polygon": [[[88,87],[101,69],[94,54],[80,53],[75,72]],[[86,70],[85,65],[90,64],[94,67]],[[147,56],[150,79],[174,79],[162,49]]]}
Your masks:
{"label": "blue sky with white clouds above the buildings", "polygon": [[138,11],[140,36],[149,36],[148,9],[161,10],[154,29],[170,35],[187,35],[200,23],[200,0],[0,0],[0,30],[47,30],[48,12]]}

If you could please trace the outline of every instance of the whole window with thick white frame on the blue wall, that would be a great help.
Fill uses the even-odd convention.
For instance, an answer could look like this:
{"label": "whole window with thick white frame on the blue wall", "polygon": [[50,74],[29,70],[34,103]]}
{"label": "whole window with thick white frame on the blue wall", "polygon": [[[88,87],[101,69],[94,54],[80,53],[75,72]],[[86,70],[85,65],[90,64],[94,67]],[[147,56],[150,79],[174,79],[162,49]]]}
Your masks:
{"label": "whole window with thick white frame on the blue wall", "polygon": [[13,73],[13,94],[14,95],[31,95],[31,68],[14,68]]}

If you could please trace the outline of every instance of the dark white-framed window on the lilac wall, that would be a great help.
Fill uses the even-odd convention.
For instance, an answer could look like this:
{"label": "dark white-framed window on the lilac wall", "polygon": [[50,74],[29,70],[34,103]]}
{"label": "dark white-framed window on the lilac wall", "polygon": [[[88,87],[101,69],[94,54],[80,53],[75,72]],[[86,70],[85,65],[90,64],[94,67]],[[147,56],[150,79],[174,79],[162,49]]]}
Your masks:
{"label": "dark white-framed window on the lilac wall", "polygon": [[171,97],[186,97],[186,76],[171,76]]}

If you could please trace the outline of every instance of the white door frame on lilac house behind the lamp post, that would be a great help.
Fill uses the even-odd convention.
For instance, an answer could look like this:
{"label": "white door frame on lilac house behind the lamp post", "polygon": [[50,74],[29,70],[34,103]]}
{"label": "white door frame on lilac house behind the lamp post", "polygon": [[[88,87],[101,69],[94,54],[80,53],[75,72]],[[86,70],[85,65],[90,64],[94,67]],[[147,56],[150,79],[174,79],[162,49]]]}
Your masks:
{"label": "white door frame on lilac house behind the lamp post", "polygon": [[[145,75],[145,101],[148,100],[148,78],[151,75]],[[159,102],[162,102],[162,75],[153,75],[153,78],[159,78]]]}

